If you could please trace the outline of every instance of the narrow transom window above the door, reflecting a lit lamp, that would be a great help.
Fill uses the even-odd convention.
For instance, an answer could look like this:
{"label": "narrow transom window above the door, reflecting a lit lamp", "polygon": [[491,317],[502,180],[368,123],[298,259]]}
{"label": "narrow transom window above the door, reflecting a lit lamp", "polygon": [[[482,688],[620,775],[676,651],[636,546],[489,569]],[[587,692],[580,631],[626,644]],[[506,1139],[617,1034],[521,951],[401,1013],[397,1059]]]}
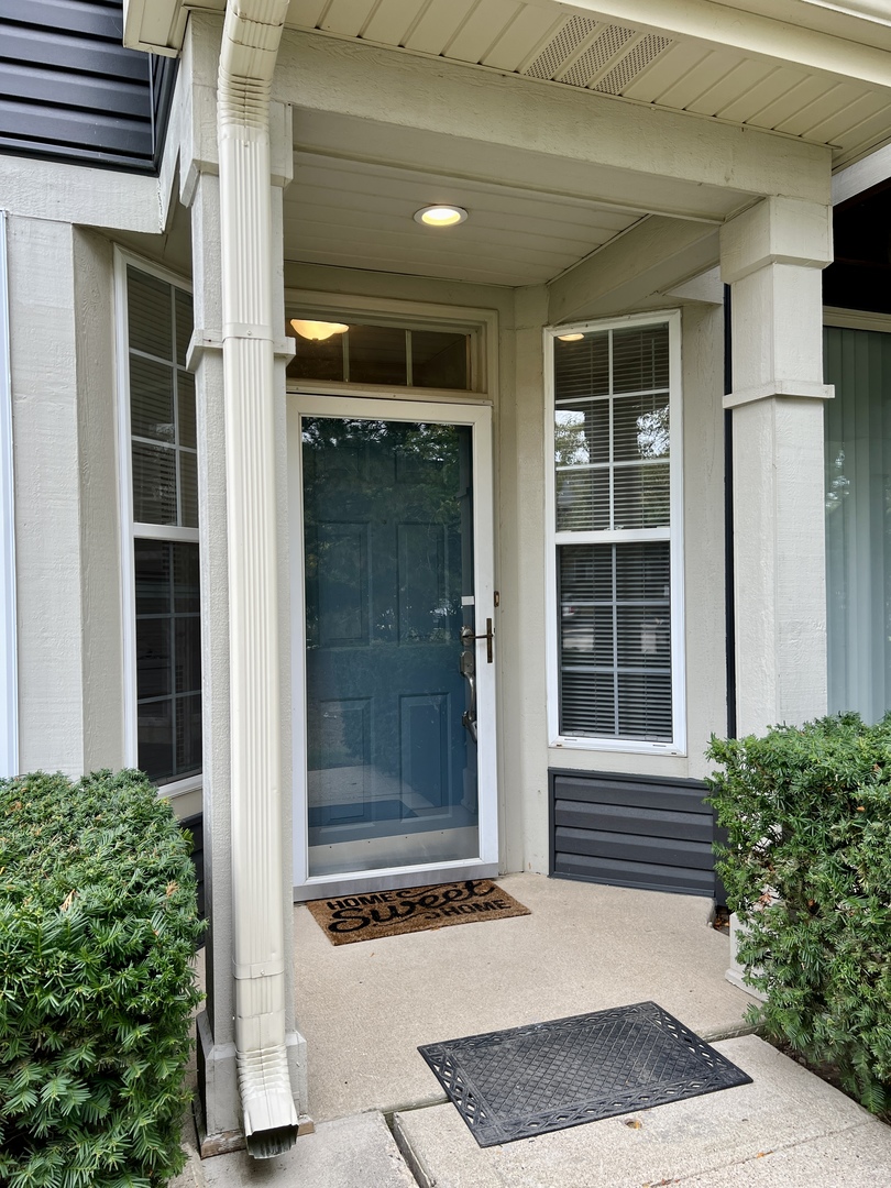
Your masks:
{"label": "narrow transom window above the door, reflecting a lit lamp", "polygon": [[462,330],[298,312],[289,316],[286,334],[295,343],[289,379],[460,392],[472,387],[473,335]]}

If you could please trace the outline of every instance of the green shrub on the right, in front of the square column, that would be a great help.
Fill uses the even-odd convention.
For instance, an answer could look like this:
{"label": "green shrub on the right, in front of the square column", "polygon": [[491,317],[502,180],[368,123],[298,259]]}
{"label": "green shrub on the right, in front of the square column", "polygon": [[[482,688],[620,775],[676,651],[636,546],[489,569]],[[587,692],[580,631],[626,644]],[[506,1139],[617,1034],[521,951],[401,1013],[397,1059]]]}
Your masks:
{"label": "green shrub on the right, in front of the square column", "polygon": [[891,1104],[891,715],[712,739],[709,781],[739,959],[766,1034]]}

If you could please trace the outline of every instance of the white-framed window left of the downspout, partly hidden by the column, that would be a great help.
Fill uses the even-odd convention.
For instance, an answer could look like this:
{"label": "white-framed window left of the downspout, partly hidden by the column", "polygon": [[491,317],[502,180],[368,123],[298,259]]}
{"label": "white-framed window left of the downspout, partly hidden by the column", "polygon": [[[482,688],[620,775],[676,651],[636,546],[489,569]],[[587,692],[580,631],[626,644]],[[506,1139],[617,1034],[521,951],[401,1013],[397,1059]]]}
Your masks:
{"label": "white-framed window left of the downspout, partly hidden by the column", "polygon": [[201,590],[189,286],[115,252],[126,762],[201,784]]}

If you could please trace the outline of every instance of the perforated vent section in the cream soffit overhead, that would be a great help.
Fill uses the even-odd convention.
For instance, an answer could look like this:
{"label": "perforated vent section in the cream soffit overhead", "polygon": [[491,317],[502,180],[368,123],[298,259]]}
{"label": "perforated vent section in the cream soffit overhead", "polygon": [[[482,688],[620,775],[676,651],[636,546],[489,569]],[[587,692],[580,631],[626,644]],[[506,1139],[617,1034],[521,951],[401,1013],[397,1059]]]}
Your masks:
{"label": "perforated vent section in the cream soffit overhead", "polygon": [[570,17],[519,72],[620,95],[669,45],[668,37]]}

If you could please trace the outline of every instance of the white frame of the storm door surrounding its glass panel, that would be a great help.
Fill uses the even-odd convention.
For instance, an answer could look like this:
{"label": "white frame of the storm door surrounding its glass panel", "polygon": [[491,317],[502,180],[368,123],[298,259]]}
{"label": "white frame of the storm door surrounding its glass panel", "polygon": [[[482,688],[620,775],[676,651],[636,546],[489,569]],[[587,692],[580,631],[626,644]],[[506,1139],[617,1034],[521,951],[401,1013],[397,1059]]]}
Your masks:
{"label": "white frame of the storm door surrounding its glass panel", "polygon": [[[372,397],[287,397],[287,478],[291,542],[291,682],[293,740],[293,895],[312,899],[347,895],[361,886],[378,891],[498,873],[498,739],[495,737],[495,664],[487,663],[486,640],[476,640],[476,721],[480,857],[462,861],[388,867],[355,874],[309,878],[307,827],[307,665],[305,587],[303,573],[302,417],[356,417],[469,425],[473,430],[474,602],[478,633],[494,621],[494,516],[492,409],[488,404],[434,404]],[[498,638],[495,637],[495,650]],[[456,653],[457,663],[457,653]]]}

